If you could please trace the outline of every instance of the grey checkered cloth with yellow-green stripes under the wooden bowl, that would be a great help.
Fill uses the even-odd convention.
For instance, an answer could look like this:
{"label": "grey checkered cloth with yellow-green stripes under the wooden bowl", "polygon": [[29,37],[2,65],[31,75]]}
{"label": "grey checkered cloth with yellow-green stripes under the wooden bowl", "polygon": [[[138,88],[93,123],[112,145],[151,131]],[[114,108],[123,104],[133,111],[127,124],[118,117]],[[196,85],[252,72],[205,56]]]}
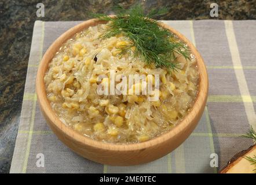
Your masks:
{"label": "grey checkered cloth with yellow-green stripes under the wooden bowl", "polygon": [[[256,127],[256,21],[164,21],[192,41],[207,65],[209,98],[195,131],[167,156],[143,165],[102,165],[75,154],[47,127],[36,101],[35,77],[42,54],[78,23],[35,22],[11,173],[216,173],[253,144],[240,135]],[[41,167],[38,154],[44,156]],[[210,165],[211,155],[218,167]]]}

